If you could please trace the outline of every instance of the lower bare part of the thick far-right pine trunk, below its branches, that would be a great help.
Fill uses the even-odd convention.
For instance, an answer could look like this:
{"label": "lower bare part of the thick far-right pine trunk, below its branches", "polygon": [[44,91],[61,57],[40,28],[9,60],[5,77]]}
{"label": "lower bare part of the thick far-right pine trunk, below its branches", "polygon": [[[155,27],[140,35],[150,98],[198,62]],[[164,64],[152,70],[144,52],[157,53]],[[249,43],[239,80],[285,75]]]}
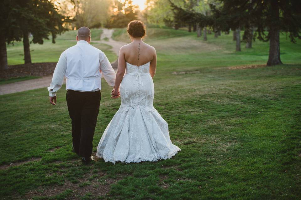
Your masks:
{"label": "lower bare part of the thick far-right pine trunk, below its branches", "polygon": [[279,65],[282,64],[280,60],[280,42],[279,42],[279,33],[277,29],[270,30],[270,51],[269,51],[269,60],[267,61],[267,66]]}

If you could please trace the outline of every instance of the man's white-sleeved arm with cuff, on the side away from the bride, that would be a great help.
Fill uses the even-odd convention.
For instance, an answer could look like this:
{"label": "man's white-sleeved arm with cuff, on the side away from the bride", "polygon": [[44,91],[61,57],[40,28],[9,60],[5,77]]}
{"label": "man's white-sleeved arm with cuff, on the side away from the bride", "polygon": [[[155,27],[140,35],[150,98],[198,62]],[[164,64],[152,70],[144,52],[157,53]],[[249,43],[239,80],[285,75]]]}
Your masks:
{"label": "man's white-sleeved arm with cuff, on the side away from the bride", "polygon": [[64,76],[66,73],[66,69],[67,69],[67,58],[66,58],[66,51],[64,51],[61,54],[59,61],[56,64],[52,76],[52,81],[50,83],[50,87],[47,88],[50,97],[55,97],[56,91],[58,91],[62,87],[64,83]]}

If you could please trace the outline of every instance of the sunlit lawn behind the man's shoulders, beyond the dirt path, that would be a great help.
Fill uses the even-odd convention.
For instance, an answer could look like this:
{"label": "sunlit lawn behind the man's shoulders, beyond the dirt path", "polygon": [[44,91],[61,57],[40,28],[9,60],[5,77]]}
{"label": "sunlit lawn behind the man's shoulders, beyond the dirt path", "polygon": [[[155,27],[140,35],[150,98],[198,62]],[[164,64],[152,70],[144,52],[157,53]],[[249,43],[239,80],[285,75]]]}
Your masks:
{"label": "sunlit lawn behind the man's shoulders, beyond the dirt path", "polygon": [[[91,44],[102,50],[107,55],[108,59],[113,62],[116,60],[117,56],[110,50],[112,47],[95,42],[100,40],[101,33],[102,29],[91,30]],[[57,62],[63,51],[76,45],[76,35],[77,31],[67,31],[57,36],[55,44],[51,42],[51,36],[50,40],[45,40],[42,45],[30,44],[32,63]],[[29,39],[31,40],[31,38]],[[13,45],[8,45],[7,54],[8,65],[24,64],[23,42],[14,42]]]}

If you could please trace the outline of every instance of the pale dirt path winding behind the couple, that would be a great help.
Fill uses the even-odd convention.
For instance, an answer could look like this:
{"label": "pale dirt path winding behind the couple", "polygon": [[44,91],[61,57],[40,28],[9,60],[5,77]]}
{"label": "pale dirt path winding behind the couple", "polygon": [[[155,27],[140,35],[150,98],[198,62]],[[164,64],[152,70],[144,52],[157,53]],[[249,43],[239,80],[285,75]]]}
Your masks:
{"label": "pale dirt path winding behind the couple", "polygon": [[[93,42],[104,43],[112,46],[112,50],[118,56],[120,47],[122,47],[126,43],[113,40],[112,39],[113,32],[114,32],[113,29],[104,28],[103,33],[101,35],[101,41],[93,41]],[[103,40],[106,37],[108,38],[108,41]],[[42,77],[37,79],[31,79],[26,81],[19,81],[16,83],[8,83],[8,84],[0,85],[0,95],[23,92],[23,91],[33,90],[38,88],[45,88],[46,91],[47,87],[50,86],[51,79],[52,76],[47,76],[47,77]],[[66,83],[66,80],[64,80],[64,83]]]}

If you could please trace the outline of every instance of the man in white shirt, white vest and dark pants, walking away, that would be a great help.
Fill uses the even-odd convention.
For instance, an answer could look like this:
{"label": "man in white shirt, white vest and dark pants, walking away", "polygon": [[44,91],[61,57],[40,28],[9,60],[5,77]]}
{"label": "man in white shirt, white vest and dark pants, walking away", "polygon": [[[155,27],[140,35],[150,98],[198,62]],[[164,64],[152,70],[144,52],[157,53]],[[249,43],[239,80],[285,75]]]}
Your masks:
{"label": "man in white shirt, white vest and dark pants, walking away", "polygon": [[91,31],[81,27],[77,31],[77,44],[65,50],[56,64],[49,91],[52,105],[56,105],[56,91],[66,77],[66,100],[72,124],[72,149],[82,162],[94,160],[92,141],[101,99],[101,75],[115,85],[116,73],[106,55],[90,45]]}

